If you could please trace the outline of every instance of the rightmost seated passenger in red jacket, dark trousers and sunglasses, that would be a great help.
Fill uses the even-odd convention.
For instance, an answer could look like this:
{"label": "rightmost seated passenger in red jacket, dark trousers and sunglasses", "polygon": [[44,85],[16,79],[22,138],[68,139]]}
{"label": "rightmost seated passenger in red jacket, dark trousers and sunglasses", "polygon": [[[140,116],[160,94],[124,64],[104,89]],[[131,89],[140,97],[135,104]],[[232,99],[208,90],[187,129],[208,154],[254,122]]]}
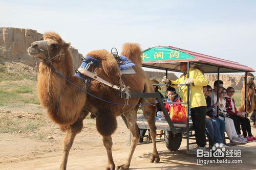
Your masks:
{"label": "rightmost seated passenger in red jacket, dark trousers and sunglasses", "polygon": [[[226,109],[227,114],[235,121],[237,121],[237,124],[235,126],[237,127],[236,130],[238,131],[240,138],[243,139],[246,142],[252,142],[256,140],[256,138],[251,134],[251,126],[250,126],[250,120],[246,117],[248,116],[246,113],[239,113],[236,105],[234,103],[234,99],[232,96],[234,95],[234,88],[228,87],[227,88],[227,95],[226,95]],[[243,137],[241,136],[240,131],[240,122],[242,126],[243,131]],[[248,136],[247,136],[248,132]]]}

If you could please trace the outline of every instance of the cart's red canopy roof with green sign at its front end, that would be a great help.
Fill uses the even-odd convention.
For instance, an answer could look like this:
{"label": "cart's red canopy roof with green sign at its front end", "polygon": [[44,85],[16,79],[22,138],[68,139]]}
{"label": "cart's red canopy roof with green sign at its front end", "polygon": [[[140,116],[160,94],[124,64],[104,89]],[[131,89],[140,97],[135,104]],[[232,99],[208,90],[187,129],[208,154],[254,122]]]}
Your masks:
{"label": "cart's red canopy roof with green sign at its front end", "polygon": [[205,73],[255,72],[252,68],[238,62],[220,59],[173,46],[155,46],[144,50],[142,66],[180,72],[180,62],[191,62],[191,66],[202,67]]}

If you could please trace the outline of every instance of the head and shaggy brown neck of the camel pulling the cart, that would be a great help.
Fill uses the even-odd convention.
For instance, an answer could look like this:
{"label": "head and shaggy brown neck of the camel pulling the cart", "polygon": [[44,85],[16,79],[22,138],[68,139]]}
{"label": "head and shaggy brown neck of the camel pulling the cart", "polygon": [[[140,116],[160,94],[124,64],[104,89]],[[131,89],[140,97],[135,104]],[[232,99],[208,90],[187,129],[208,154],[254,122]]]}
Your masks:
{"label": "head and shaggy brown neck of the camel pulling the cart", "polygon": [[[50,56],[56,56],[59,52],[62,54],[60,58],[51,62],[53,67],[59,70],[68,80],[83,88],[84,83],[74,76],[73,58],[69,51],[70,44],[64,42],[56,33],[45,33],[44,40],[47,40]],[[40,49],[44,52],[36,54],[38,49],[32,48],[33,45],[35,47],[40,46]],[[34,53],[33,56],[39,60],[45,60],[42,54],[48,56],[46,44],[38,45],[34,42],[29,47],[28,51],[30,50],[34,50],[30,54],[33,55]],[[41,62],[38,70],[38,98],[41,105],[47,109],[49,117],[55,123],[61,125],[75,123],[86,102],[86,95],[58,77],[54,71],[51,70],[50,74],[49,64],[46,62]]]}

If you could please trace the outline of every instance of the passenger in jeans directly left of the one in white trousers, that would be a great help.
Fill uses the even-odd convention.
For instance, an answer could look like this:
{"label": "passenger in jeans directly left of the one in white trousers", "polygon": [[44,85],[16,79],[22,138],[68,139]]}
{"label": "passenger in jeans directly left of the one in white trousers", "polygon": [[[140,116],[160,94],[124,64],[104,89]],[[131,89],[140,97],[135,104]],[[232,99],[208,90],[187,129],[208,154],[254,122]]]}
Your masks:
{"label": "passenger in jeans directly left of the one in white trousers", "polygon": [[[219,93],[223,89],[223,81],[219,81]],[[211,98],[211,106],[215,105],[217,103],[217,93],[218,93],[218,80],[214,82],[214,89],[211,92],[210,98]],[[213,110],[214,116],[216,120],[220,124],[220,130],[221,130],[221,136],[223,138],[223,142],[226,143],[225,141],[225,122],[220,119],[217,115],[217,107],[215,107]]]}

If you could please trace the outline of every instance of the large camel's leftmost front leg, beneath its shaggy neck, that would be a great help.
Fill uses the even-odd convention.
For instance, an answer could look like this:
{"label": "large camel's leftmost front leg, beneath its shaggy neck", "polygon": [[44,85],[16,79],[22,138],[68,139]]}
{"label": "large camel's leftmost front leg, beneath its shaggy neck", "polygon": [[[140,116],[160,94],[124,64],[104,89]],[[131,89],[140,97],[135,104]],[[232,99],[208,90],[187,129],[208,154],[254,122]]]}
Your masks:
{"label": "large camel's leftmost front leg, beneath its shaggy neck", "polygon": [[82,120],[87,116],[87,113],[82,113],[82,115],[79,116],[79,118],[76,120],[76,122],[67,127],[62,127],[62,130],[66,131],[66,135],[63,138],[63,154],[62,154],[62,159],[61,159],[61,164],[60,164],[60,170],[66,170],[67,168],[67,162],[68,162],[68,156],[69,156],[69,151],[72,147],[73,141],[75,139],[75,136],[77,133],[81,132],[83,124]]}

